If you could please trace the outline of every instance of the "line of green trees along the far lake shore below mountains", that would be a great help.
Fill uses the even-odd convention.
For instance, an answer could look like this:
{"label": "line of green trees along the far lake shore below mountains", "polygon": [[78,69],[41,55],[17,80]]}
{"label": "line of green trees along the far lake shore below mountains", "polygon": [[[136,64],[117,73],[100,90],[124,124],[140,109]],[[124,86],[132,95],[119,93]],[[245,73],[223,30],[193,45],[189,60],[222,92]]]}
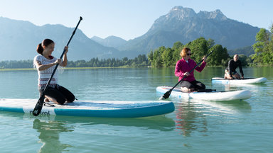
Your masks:
{"label": "line of green trees along the far lake shore below mountains", "polygon": [[[256,35],[256,42],[252,45],[255,53],[246,56],[239,55],[242,66],[272,66],[273,65],[273,24],[271,30],[264,28],[259,30]],[[121,60],[117,58],[99,59],[92,58],[89,61],[77,60],[69,61],[67,67],[83,68],[83,67],[174,67],[176,62],[181,59],[180,52],[183,47],[191,48],[193,55],[191,58],[199,62],[209,52],[213,52],[208,57],[208,66],[222,66],[228,64],[228,60],[233,55],[228,54],[226,47],[215,45],[214,40],[198,38],[186,45],[181,42],[175,42],[173,47],[161,46],[156,50],[151,50],[148,55],[139,55],[134,59],[123,57]],[[30,69],[33,68],[33,60],[6,60],[0,62],[0,69]]]}

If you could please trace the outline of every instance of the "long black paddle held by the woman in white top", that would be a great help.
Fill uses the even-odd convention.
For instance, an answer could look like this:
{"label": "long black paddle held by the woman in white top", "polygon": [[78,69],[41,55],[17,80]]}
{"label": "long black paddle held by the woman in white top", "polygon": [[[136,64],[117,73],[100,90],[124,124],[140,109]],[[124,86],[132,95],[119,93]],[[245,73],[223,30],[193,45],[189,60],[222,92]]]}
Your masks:
{"label": "long black paddle held by the woman in white top", "polygon": [[[80,16],[80,21],[82,21],[82,17],[81,17],[81,16]],[[79,26],[80,21],[77,23],[77,26]],[[68,44],[67,44],[66,46],[68,46],[69,43],[70,43],[70,40],[72,40],[73,35],[75,34],[75,32],[76,32],[76,30],[77,30],[77,26],[76,26],[75,30],[73,31],[73,34],[71,35],[70,39],[68,40]],[[65,49],[63,50],[63,54],[60,55],[60,59],[63,58],[63,55],[64,55],[64,54],[65,54]],[[35,116],[39,115],[39,114],[41,113],[41,111],[42,111],[43,103],[44,103],[43,101],[44,101],[44,98],[45,98],[45,94],[44,94],[44,93],[45,93],[46,89],[48,89],[48,84],[50,83],[51,79],[53,78],[53,76],[54,76],[54,74],[55,74],[55,72],[56,72],[58,66],[59,66],[59,64],[56,64],[56,67],[55,67],[55,69],[53,70],[53,73],[51,74],[51,77],[50,77],[50,79],[48,80],[48,83],[46,84],[45,89],[43,89],[42,96],[40,96],[40,98],[38,99],[38,102],[36,103],[35,108],[33,109],[33,112],[32,112],[32,113],[33,113],[33,115],[35,115]]]}

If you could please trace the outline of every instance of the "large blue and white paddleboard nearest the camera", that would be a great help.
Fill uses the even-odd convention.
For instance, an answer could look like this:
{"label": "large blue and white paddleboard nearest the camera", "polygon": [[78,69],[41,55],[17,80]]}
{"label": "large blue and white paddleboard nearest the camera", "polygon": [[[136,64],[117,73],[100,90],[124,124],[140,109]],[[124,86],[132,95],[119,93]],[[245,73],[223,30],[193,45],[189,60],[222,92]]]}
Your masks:
{"label": "large blue and white paddleboard nearest the camera", "polygon": [[[0,111],[32,115],[37,101],[37,99],[0,98]],[[52,102],[48,104],[43,106],[41,115],[141,118],[164,115],[174,111],[174,105],[169,101],[74,101],[65,105],[57,105]]]}

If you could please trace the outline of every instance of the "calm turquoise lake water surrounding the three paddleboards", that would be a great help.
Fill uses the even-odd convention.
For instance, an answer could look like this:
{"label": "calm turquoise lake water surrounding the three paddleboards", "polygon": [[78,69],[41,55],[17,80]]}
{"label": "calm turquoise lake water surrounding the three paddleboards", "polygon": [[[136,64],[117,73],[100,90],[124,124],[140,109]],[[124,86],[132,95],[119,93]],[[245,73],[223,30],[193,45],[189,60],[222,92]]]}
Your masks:
{"label": "calm turquoise lake water surrounding the three paddleboards", "polygon": [[[267,84],[211,84],[225,68],[196,74],[207,88],[247,89],[245,101],[168,98],[176,110],[149,118],[33,117],[0,111],[0,152],[273,152],[273,70],[244,68],[245,77]],[[157,100],[156,86],[174,86],[174,68],[66,69],[59,83],[79,100]],[[0,71],[0,98],[36,98],[37,72]]]}

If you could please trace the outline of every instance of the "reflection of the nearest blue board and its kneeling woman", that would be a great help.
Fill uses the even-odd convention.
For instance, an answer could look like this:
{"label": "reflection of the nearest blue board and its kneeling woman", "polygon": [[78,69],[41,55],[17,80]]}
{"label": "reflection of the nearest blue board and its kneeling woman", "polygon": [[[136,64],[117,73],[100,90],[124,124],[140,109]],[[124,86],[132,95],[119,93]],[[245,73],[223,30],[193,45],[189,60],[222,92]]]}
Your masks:
{"label": "reflection of the nearest blue board and its kneeling woman", "polygon": [[[52,116],[51,116],[52,117]],[[27,115],[24,116],[27,118]],[[29,118],[33,119],[32,115]],[[110,126],[125,126],[144,128],[144,130],[160,130],[172,131],[175,128],[175,123],[171,118],[164,115],[149,117],[149,118],[85,118],[85,117],[67,117],[67,116],[54,116],[42,117],[43,120],[35,118],[33,120],[33,129],[40,132],[39,140],[43,143],[39,152],[65,152],[69,151],[72,145],[63,144],[60,141],[61,132],[73,132],[73,126],[81,123],[81,126],[87,125],[110,125]],[[75,126],[74,126],[75,127]]]}

